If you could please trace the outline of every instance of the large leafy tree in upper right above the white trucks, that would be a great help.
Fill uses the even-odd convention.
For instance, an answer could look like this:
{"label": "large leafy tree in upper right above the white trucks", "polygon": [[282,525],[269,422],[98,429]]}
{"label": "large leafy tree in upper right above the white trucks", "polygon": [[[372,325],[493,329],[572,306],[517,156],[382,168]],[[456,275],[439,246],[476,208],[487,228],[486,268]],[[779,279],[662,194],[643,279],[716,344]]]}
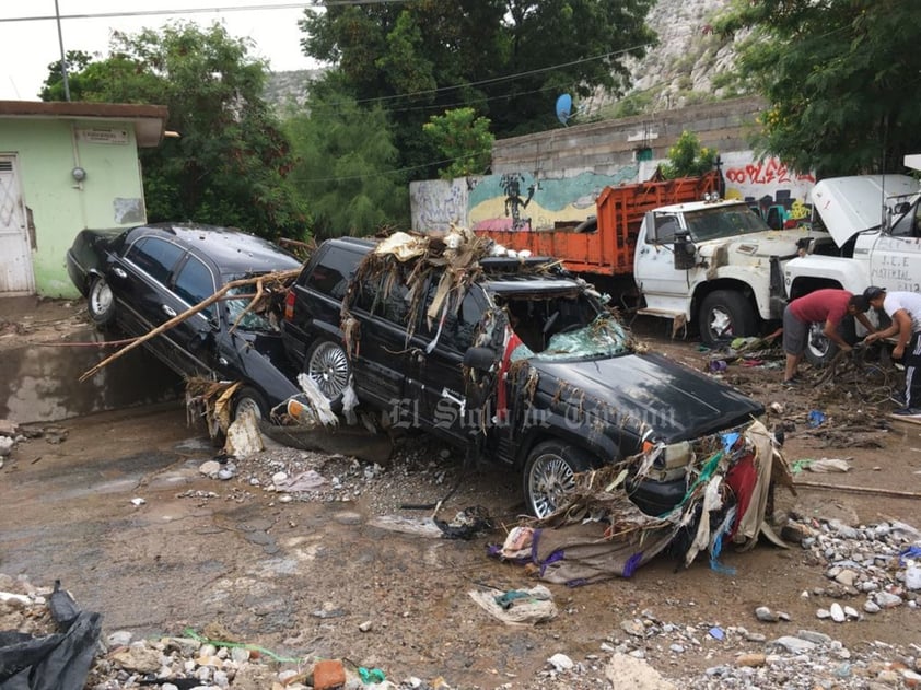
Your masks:
{"label": "large leafy tree in upper right above the white trucks", "polygon": [[738,69],[768,101],[753,145],[819,176],[901,172],[921,151],[918,12],[902,0],[736,0]]}

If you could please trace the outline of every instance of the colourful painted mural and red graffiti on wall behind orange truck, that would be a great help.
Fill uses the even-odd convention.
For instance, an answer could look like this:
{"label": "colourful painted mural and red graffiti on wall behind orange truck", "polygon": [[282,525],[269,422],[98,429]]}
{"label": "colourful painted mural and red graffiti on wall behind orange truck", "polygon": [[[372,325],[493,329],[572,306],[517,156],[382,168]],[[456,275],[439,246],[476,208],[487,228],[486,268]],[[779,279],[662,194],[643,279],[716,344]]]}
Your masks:
{"label": "colourful painted mural and red graffiti on wall behind orange truck", "polygon": [[[758,161],[750,151],[722,156],[728,199],[744,199],[773,226],[796,225],[809,217],[812,175],[790,172],[777,159]],[[536,177],[531,172],[486,175],[410,185],[412,226],[445,231],[452,223],[474,230],[550,230],[556,223],[594,215],[605,187],[649,179],[657,162],[625,165],[613,175]]]}

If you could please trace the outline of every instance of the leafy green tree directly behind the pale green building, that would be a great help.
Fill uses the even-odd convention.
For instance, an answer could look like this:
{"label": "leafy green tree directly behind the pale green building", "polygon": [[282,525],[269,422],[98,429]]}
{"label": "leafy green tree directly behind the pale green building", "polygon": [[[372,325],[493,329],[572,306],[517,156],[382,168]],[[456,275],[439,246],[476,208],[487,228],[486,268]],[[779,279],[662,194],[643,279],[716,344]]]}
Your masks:
{"label": "leafy green tree directly behind the pale green building", "polygon": [[[302,237],[308,215],[287,180],[289,144],[261,97],[265,79],[266,66],[222,25],[176,23],[117,34],[109,57],[85,63],[73,83],[84,101],[167,106],[166,128],[178,138],[140,151],[150,221]],[[61,93],[51,72],[43,94]]]}

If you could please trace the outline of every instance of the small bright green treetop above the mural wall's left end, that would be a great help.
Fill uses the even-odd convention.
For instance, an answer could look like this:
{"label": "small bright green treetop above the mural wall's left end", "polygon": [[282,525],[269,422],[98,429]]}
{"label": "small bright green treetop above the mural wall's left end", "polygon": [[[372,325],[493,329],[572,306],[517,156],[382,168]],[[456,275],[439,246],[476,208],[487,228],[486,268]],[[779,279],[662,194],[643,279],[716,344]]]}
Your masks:
{"label": "small bright green treetop above the mural wall's left end", "polygon": [[494,137],[489,132],[489,120],[477,117],[474,108],[434,115],[422,131],[432,139],[442,159],[451,162],[439,171],[442,179],[481,175],[489,167]]}

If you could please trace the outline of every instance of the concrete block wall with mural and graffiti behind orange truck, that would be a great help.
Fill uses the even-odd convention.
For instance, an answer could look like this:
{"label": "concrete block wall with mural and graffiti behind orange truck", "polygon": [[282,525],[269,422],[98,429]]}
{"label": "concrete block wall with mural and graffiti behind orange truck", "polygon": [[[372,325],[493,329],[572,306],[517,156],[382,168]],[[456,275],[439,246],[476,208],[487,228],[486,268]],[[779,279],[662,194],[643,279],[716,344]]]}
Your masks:
{"label": "concrete block wall with mural and graffiti behind orange truck", "polygon": [[[685,130],[720,152],[726,198],[780,203],[791,218],[806,218],[815,179],[791,173],[777,159],[757,160],[748,147],[759,108],[760,102],[742,98],[497,141],[492,175],[410,184],[412,226],[546,230],[582,221],[595,213],[606,186],[652,177]],[[651,160],[638,160],[642,149]]]}

